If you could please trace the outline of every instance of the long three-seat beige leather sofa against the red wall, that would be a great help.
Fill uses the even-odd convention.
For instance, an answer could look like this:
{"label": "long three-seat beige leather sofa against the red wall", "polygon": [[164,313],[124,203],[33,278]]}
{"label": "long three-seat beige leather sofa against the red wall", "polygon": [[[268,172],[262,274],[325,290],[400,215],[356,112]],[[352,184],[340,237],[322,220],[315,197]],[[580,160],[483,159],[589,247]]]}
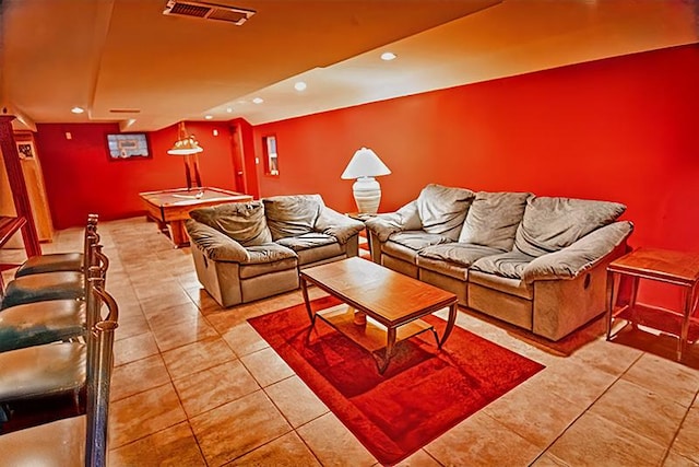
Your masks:
{"label": "long three-seat beige leather sofa against the red wall", "polygon": [[428,185],[366,222],[375,262],[559,340],[605,310],[606,265],[633,225],[617,202]]}

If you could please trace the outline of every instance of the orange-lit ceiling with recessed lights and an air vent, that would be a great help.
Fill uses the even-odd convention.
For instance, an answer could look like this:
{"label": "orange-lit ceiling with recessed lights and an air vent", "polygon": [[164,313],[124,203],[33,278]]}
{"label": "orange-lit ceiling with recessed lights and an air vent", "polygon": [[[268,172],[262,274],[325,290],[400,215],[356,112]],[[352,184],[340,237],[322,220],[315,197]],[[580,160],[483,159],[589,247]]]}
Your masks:
{"label": "orange-lit ceiling with recessed lights and an air vent", "polygon": [[257,125],[699,40],[695,0],[214,2],[257,13],[235,26],[163,15],[166,0],[0,0],[0,105],[16,129]]}

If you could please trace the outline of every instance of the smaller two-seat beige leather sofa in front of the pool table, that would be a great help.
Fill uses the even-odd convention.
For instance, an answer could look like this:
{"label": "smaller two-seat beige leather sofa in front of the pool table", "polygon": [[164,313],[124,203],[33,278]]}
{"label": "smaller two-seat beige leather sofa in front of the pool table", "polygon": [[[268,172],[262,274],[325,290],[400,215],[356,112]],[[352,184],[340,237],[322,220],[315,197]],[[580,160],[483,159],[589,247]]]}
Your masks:
{"label": "smaller two-seat beige leather sofa in front of the pool table", "polygon": [[224,307],[297,289],[299,268],[357,256],[364,230],[320,195],[220,205],[189,215],[197,277]]}

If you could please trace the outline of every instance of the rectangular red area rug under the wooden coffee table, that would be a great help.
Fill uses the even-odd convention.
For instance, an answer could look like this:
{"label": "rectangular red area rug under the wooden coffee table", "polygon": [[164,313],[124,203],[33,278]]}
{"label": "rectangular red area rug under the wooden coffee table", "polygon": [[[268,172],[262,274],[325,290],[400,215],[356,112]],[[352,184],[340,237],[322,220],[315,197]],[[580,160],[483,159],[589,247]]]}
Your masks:
{"label": "rectangular red area rug under the wooden coffee table", "polygon": [[[337,304],[313,301],[313,310]],[[446,322],[424,320],[441,336]],[[249,319],[296,374],[384,465],[395,464],[544,366],[454,327],[442,351],[430,332],[399,343],[386,373],[375,358],[304,305]]]}

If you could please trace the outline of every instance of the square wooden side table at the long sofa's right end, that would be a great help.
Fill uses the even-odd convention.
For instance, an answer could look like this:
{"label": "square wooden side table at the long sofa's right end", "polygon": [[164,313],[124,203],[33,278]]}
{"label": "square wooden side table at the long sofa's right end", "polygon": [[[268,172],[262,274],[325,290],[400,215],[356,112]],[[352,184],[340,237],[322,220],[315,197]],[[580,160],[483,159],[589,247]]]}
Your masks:
{"label": "square wooden side table at the long sofa's right end", "polygon": [[[631,278],[628,304],[615,307],[615,275]],[[683,310],[671,311],[637,303],[640,279],[648,279],[683,288]],[[699,338],[699,319],[692,317],[697,305],[699,253],[683,253],[657,248],[638,248],[607,266],[607,340],[612,339],[612,324],[625,319],[678,337],[677,360],[682,360],[688,341]]]}

